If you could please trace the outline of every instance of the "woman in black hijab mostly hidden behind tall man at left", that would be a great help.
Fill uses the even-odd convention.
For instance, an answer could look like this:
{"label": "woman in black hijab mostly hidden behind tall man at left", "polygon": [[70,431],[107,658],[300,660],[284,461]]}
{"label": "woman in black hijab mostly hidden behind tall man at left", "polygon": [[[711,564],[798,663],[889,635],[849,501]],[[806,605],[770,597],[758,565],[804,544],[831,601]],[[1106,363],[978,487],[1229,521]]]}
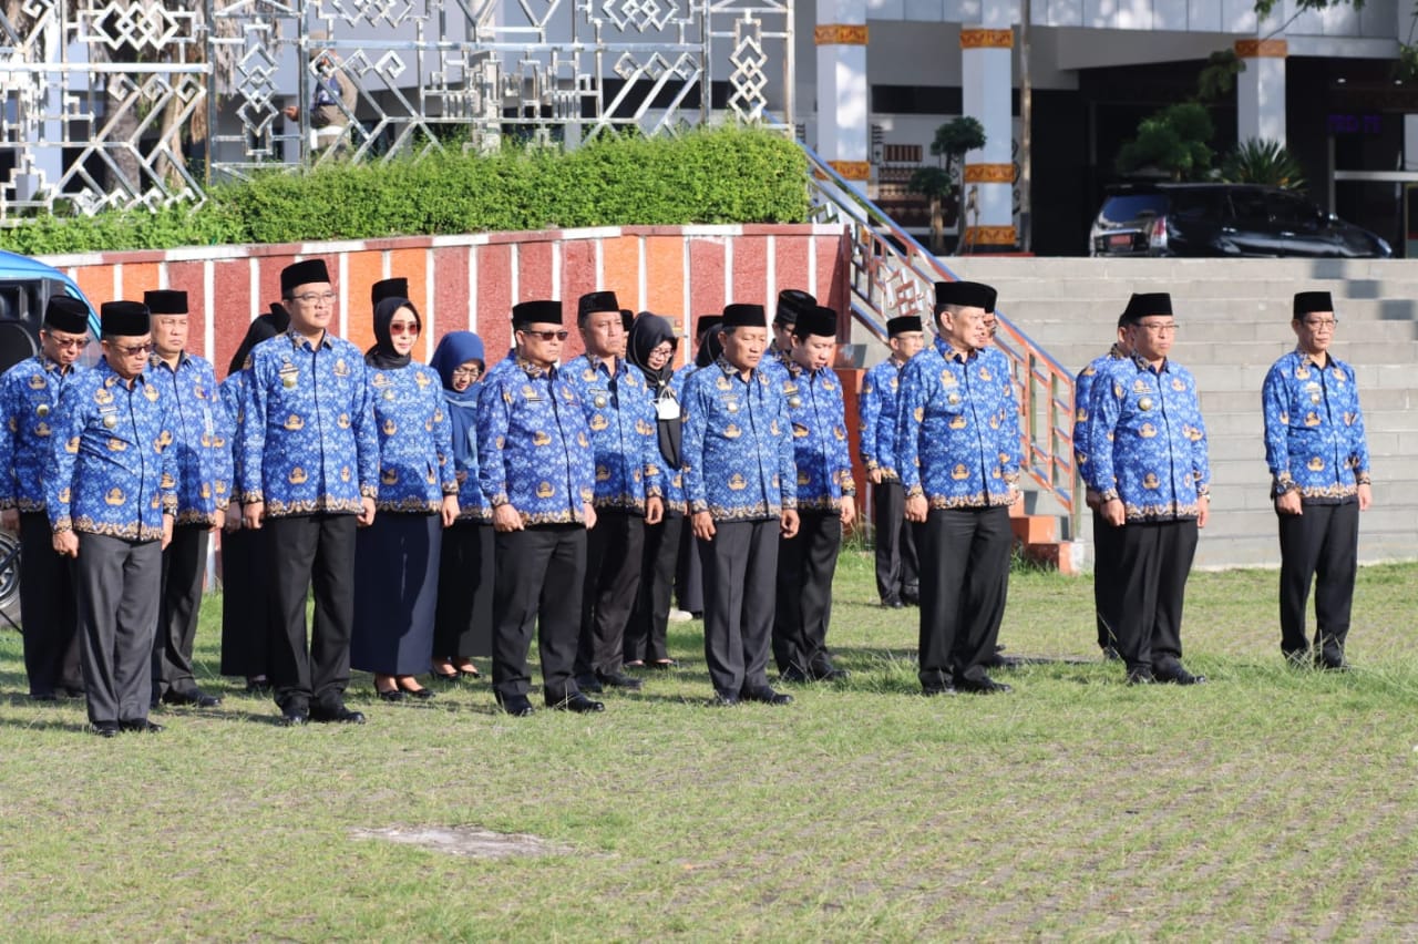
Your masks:
{"label": "woman in black hijab mostly hidden behind tall man at left", "polygon": [[[272,303],[269,313],[258,315],[231,359],[227,378],[217,388],[227,420],[221,435],[227,448],[233,449],[233,459],[237,456],[235,444],[241,441],[247,357],[252,347],[275,337],[289,325],[291,316],[279,303]],[[244,678],[247,692],[252,695],[267,695],[271,690],[268,652],[275,621],[267,597],[262,544],[259,534],[241,527],[241,503],[233,495],[221,534],[221,675]]]}

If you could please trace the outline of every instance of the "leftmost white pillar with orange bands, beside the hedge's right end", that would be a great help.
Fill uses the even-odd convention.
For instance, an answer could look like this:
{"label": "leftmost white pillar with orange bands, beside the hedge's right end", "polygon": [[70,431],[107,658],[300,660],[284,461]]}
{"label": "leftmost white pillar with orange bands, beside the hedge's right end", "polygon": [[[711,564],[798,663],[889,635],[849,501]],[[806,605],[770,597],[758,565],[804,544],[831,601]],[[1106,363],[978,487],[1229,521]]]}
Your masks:
{"label": "leftmost white pillar with orange bands, beside the hedge's right end", "polygon": [[866,4],[817,0],[817,152],[862,190],[872,174]]}

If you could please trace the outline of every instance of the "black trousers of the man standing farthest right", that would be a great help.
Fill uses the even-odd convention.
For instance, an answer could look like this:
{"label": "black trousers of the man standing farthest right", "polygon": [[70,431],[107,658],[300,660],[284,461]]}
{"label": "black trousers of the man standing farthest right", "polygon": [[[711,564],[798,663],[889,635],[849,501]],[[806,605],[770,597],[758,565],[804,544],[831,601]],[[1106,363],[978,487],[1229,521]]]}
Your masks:
{"label": "black trousers of the man standing farthest right", "polygon": [[1303,653],[1305,608],[1314,583],[1314,648],[1326,662],[1344,659],[1358,570],[1358,503],[1310,505],[1280,515],[1280,651]]}

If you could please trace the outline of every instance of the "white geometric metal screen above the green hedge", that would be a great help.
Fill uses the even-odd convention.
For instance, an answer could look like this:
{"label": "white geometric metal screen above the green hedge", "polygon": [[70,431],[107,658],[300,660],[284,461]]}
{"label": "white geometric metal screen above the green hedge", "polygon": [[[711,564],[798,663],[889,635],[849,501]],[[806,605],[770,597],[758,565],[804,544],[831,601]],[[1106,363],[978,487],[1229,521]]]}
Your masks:
{"label": "white geometric metal screen above the green hedge", "polygon": [[[0,218],[509,136],[788,132],[791,27],[793,0],[0,0]],[[319,69],[357,89],[323,136],[282,115]]]}

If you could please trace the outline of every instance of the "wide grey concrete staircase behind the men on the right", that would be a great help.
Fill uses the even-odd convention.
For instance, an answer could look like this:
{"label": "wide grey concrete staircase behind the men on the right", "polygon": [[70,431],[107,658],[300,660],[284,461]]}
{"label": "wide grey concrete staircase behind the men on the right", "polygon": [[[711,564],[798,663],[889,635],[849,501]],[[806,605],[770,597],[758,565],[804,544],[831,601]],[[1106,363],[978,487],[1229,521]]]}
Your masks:
{"label": "wide grey concrete staircase behind the men on the right", "polygon": [[[1290,296],[1329,289],[1340,319],[1333,350],[1358,374],[1374,466],[1360,560],[1418,558],[1418,261],[944,261],[960,278],[997,286],[1005,318],[1072,371],[1112,343],[1129,293],[1171,292],[1181,326],[1173,357],[1197,376],[1211,446],[1212,520],[1198,567],[1279,563],[1261,383],[1295,347]],[[1079,532],[1090,543],[1089,516]]]}

